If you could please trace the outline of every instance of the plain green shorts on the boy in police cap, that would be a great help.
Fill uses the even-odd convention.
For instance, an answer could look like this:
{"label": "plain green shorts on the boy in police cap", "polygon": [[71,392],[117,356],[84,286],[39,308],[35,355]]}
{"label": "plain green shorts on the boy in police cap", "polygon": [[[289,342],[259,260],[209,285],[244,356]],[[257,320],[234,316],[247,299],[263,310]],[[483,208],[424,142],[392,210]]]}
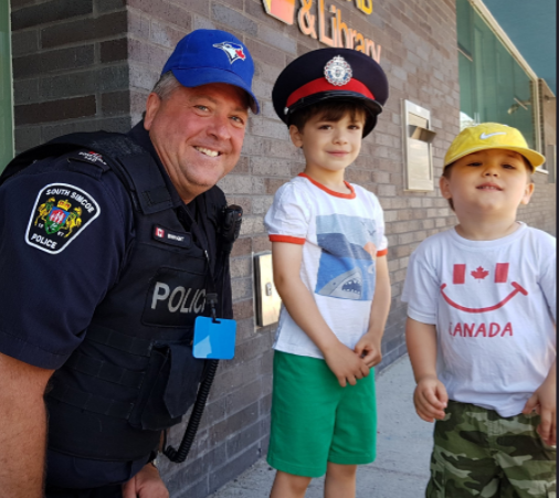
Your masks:
{"label": "plain green shorts on the boy in police cap", "polygon": [[274,353],[267,463],[287,474],[320,477],[327,463],[370,464],[376,456],[375,370],[341,388],[324,360]]}

